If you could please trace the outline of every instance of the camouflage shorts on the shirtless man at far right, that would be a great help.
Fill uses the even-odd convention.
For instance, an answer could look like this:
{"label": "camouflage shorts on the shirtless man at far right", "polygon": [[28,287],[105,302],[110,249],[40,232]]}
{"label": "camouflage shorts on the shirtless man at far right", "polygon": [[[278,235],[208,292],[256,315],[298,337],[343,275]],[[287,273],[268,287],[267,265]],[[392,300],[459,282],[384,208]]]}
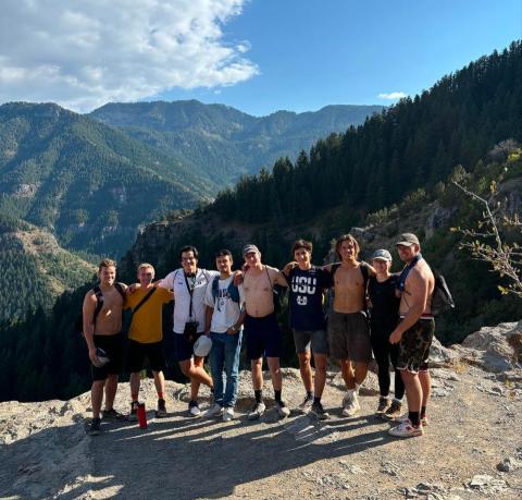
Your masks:
{"label": "camouflage shorts on the shirtless man at far right", "polygon": [[412,374],[426,371],[434,333],[434,319],[419,319],[406,330],[399,342],[397,369],[405,369]]}

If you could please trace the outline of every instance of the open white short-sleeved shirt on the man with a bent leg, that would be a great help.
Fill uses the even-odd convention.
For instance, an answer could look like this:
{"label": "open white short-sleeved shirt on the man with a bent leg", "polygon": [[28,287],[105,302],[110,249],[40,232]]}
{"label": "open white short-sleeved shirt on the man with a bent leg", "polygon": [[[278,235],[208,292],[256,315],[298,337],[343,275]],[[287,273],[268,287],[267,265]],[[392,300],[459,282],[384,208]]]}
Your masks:
{"label": "open white short-sleeved shirt on the man with a bent leg", "polygon": [[204,331],[204,294],[207,285],[212,282],[217,271],[197,269],[196,276],[187,277],[188,285],[192,291],[192,315],[190,310],[190,293],[185,282],[183,268],[176,269],[161,280],[160,286],[174,290],[174,333],[183,333],[185,324],[198,321],[198,332]]}

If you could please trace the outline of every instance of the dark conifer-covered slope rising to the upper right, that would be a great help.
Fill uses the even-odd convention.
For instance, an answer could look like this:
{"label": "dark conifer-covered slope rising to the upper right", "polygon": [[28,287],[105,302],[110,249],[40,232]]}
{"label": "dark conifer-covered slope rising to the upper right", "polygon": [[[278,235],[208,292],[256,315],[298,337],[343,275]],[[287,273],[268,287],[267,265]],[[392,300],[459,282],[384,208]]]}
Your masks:
{"label": "dark conifer-covered slope rising to the upper right", "polygon": [[345,207],[346,225],[456,164],[471,169],[497,143],[522,139],[522,44],[511,44],[402,99],[360,127],[319,141],[296,162],[243,179],[209,211],[241,222],[291,222]]}

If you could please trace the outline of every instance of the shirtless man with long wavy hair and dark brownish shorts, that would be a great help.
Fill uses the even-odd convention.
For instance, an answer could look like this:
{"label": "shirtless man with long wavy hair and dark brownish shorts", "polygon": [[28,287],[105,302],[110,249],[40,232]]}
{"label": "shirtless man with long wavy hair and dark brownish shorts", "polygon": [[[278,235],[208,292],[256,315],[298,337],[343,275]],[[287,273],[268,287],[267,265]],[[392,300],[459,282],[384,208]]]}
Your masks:
{"label": "shirtless man with long wavy hair and dark brownish shorts", "polygon": [[[366,282],[374,269],[360,263],[359,244],[351,234],[340,236],[335,252],[341,260],[326,266],[334,280],[334,307],[328,318],[328,345],[338,361],[347,392],[343,399],[343,415],[353,416],[360,410],[359,388],[372,361],[372,345],[366,315]],[[355,363],[355,370],[352,368]]]}

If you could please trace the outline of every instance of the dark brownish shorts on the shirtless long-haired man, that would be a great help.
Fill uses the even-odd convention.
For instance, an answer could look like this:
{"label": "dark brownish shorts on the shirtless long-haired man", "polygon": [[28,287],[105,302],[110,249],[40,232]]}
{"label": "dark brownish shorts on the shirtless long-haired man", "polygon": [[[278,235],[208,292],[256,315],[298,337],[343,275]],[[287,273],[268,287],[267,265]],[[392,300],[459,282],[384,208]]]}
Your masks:
{"label": "dark brownish shorts on the shirtless long-haired man", "polygon": [[357,363],[372,361],[372,344],[366,314],[336,313],[328,315],[330,355],[335,359],[350,359]]}

